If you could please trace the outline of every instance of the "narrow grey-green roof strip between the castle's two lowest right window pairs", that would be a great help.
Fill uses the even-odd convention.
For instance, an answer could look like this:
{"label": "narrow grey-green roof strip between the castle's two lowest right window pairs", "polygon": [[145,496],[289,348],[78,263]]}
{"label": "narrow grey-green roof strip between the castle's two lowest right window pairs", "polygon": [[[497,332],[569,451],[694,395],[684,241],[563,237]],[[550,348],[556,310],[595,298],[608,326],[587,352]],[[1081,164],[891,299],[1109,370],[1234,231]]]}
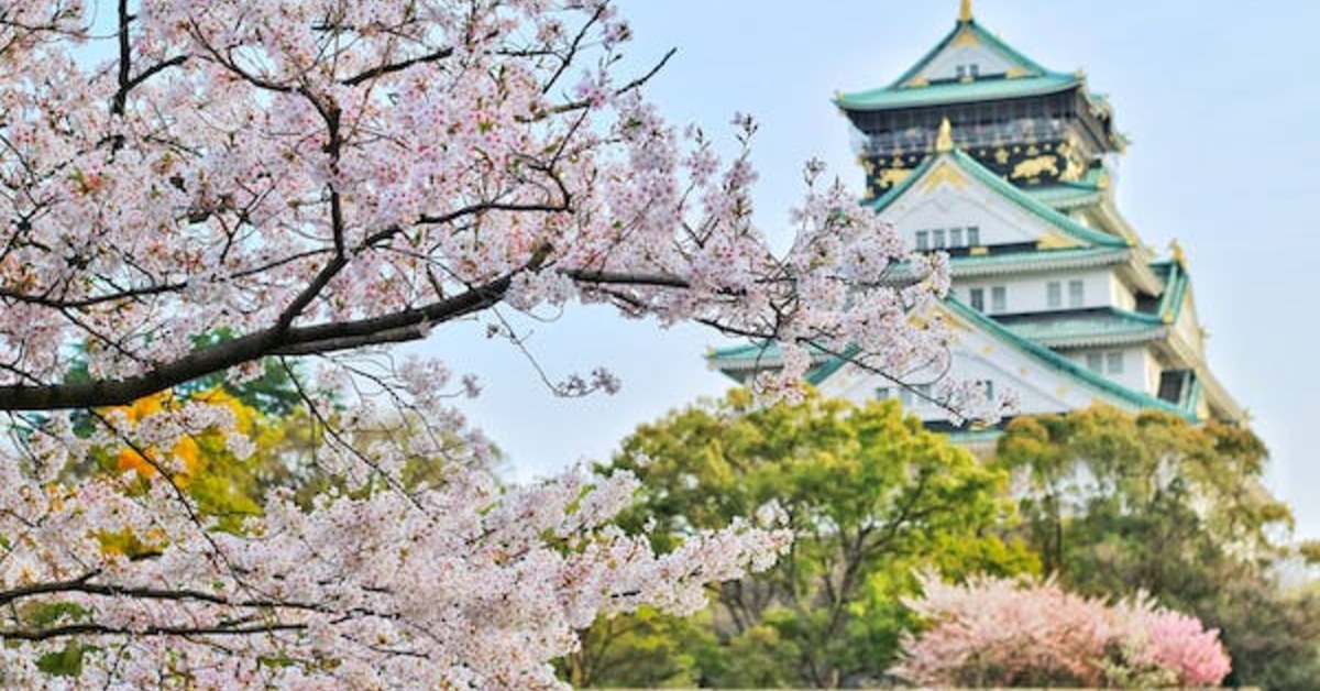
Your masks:
{"label": "narrow grey-green roof strip between the castle's two lowest right window pairs", "polygon": [[1012,333],[1051,347],[1082,347],[1144,342],[1162,338],[1167,326],[1155,314],[1105,308],[1027,318],[999,317]]}

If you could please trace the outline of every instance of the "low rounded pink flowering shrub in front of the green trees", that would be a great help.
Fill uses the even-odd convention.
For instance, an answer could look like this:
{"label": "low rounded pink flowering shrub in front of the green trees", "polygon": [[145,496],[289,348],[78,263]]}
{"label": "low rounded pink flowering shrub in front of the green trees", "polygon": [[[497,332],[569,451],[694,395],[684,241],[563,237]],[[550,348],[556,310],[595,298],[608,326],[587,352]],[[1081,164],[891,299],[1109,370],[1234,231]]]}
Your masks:
{"label": "low rounded pink flowering shrub in front of the green trees", "polygon": [[903,642],[894,674],[952,686],[1213,686],[1229,673],[1217,630],[1144,596],[1107,605],[1052,579],[923,577],[907,601],[929,628]]}

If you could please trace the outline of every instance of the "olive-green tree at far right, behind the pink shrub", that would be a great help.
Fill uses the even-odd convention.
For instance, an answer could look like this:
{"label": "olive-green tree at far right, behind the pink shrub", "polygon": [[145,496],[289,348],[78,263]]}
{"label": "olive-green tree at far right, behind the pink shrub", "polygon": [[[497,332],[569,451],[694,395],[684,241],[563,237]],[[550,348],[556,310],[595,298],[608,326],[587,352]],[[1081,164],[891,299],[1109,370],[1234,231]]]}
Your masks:
{"label": "olive-green tree at far right, behind the pink shrub", "polygon": [[1134,589],[1222,630],[1229,683],[1313,688],[1320,602],[1278,584],[1288,507],[1265,489],[1242,427],[1096,407],[1019,418],[993,465],[1019,489],[1047,571],[1090,595]]}

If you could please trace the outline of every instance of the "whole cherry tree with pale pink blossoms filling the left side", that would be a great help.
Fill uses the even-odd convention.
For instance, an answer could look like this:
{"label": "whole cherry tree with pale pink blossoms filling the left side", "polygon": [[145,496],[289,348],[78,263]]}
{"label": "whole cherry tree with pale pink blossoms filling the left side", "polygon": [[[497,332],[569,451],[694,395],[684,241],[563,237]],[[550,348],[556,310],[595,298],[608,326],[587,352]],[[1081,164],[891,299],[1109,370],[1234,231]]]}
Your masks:
{"label": "whole cherry tree with pale pink blossoms filling the left side", "polygon": [[[820,353],[946,357],[912,318],[942,260],[817,165],[774,252],[751,119],[729,161],[668,126],[630,34],[607,0],[0,0],[0,683],[546,686],[598,614],[692,610],[770,563],[783,532],[748,522],[665,555],[609,527],[627,474],[500,485],[446,404],[475,384],[388,355],[603,303],[781,344],[770,388]],[[272,362],[339,481],[223,527],[176,449],[252,444],[189,390]],[[135,462],[69,476],[107,448]],[[401,482],[417,458],[442,480]]]}

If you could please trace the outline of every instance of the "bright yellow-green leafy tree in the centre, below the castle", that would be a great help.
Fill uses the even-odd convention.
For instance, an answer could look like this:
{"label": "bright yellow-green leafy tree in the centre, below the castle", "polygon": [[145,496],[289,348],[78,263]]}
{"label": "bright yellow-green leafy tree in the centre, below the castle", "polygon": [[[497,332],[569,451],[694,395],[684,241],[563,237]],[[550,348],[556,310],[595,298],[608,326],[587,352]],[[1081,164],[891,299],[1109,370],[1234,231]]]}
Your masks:
{"label": "bright yellow-green leafy tree in the centre, below the castle", "polygon": [[[924,431],[894,402],[855,406],[810,394],[760,407],[734,391],[643,425],[610,468],[642,478],[643,497],[624,525],[653,525],[657,548],[771,502],[796,535],[774,569],[713,592],[719,645],[697,655],[705,684],[875,679],[912,624],[898,599],[913,593],[916,569],[957,577],[1036,565],[1022,544],[998,538],[1011,515],[1006,476]],[[614,654],[636,654],[624,643]]]}

